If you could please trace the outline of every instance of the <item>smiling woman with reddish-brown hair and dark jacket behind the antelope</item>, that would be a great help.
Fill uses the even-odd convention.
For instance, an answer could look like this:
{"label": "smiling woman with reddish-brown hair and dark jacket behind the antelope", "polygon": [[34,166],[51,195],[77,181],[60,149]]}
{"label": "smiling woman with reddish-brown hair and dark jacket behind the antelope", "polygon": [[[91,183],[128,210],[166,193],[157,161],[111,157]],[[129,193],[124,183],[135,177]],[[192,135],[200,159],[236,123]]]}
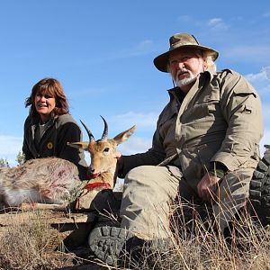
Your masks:
{"label": "smiling woman with reddish-brown hair and dark jacket behind the antelope", "polygon": [[81,179],[87,166],[83,150],[67,146],[82,141],[82,132],[69,114],[67,97],[57,79],[44,78],[31,89],[25,101],[30,106],[24,122],[23,153],[25,159],[60,157],[73,162]]}

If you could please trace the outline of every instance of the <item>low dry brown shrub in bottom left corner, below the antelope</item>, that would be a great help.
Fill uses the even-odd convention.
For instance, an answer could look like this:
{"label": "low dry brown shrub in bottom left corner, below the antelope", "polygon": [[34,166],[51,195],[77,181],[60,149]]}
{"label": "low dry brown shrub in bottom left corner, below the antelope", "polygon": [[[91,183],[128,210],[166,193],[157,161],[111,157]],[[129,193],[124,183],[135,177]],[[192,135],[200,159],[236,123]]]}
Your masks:
{"label": "low dry brown shrub in bottom left corner, below the antelope", "polygon": [[18,222],[13,214],[14,226],[4,228],[0,234],[0,269],[56,269],[71,266],[72,257],[55,250],[61,243],[58,231],[36,218]]}

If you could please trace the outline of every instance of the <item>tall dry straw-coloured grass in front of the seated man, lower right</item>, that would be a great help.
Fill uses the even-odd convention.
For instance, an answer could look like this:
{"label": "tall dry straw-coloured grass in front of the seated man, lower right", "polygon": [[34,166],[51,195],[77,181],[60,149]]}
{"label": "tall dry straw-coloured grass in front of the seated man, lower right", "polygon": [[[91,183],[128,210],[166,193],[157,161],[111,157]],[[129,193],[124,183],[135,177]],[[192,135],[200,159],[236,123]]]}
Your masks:
{"label": "tall dry straw-coloured grass in front of the seated man, lower right", "polygon": [[[189,208],[189,210],[186,209]],[[202,209],[199,210],[202,212]],[[188,214],[186,214],[188,212]],[[210,221],[211,220],[211,221]],[[136,269],[266,270],[270,269],[270,229],[243,213],[224,237],[208,211],[181,206],[172,219],[174,238],[166,252],[152,248]]]}

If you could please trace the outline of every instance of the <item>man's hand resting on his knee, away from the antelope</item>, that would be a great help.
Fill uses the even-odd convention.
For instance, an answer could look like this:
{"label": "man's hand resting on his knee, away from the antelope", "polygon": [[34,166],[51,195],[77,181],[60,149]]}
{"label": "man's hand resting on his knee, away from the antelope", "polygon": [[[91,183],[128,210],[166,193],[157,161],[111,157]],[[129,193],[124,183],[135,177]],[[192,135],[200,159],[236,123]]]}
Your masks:
{"label": "man's hand resting on his knee, away from the antelope", "polygon": [[216,175],[212,175],[211,173],[206,173],[202,177],[202,180],[197,185],[198,194],[202,201],[211,201],[211,198],[215,196],[219,181],[220,178]]}

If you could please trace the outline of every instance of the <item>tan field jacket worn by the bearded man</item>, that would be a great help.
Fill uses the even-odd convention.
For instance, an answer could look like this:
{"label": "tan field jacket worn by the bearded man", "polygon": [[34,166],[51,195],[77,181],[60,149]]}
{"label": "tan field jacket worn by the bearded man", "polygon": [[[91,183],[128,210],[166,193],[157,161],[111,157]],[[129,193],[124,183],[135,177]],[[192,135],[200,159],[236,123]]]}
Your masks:
{"label": "tan field jacket worn by the bearded man", "polygon": [[[258,144],[263,136],[261,102],[256,90],[237,72],[226,69],[201,74],[183,103],[177,87],[157,121],[152,148],[146,153],[124,156],[122,175],[132,167],[157,165],[178,152],[173,165],[194,187],[219,161],[230,171],[256,167]],[[192,185],[193,185],[192,184]]]}

